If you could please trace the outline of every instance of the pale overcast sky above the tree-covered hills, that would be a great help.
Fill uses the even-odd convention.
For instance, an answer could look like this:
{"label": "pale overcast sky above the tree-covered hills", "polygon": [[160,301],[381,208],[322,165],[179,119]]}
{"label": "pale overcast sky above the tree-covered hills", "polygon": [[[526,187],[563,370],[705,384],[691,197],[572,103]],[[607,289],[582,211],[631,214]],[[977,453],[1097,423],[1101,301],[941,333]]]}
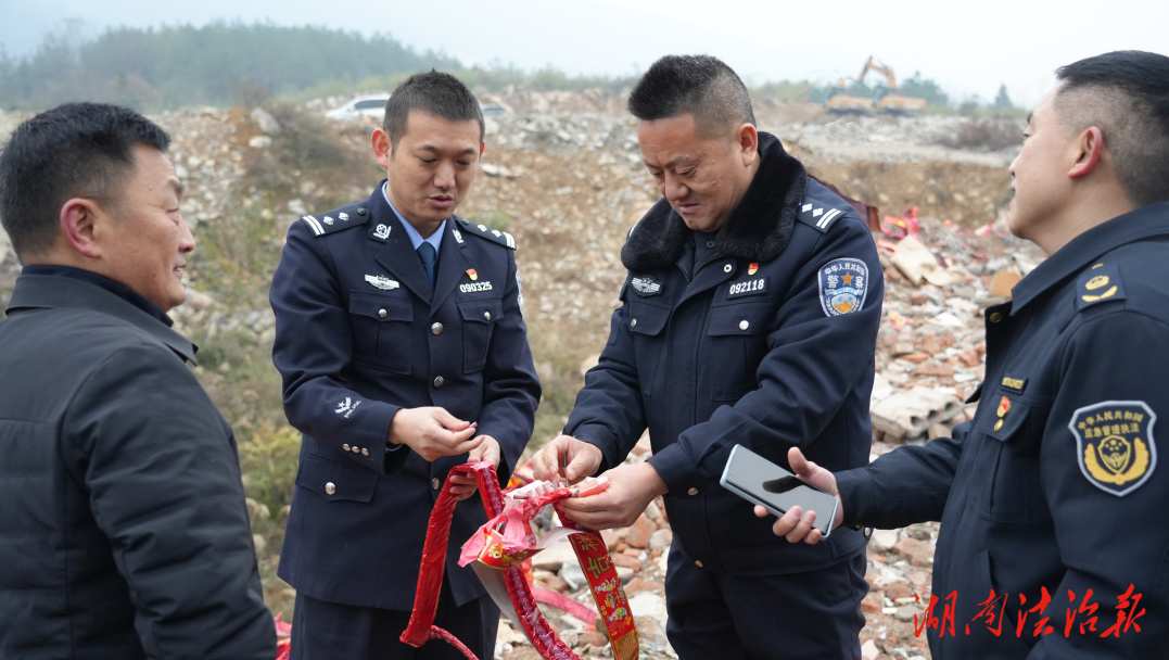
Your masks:
{"label": "pale overcast sky above the tree-covered hills", "polygon": [[748,85],[855,77],[873,55],[899,78],[920,71],[962,99],[1005,83],[1033,105],[1052,71],[1108,50],[1169,54],[1167,0],[0,0],[0,47],[35,50],[79,19],[79,39],[110,26],[214,20],[380,32],[465,64],[552,65],[631,75],[670,53],[706,53]]}

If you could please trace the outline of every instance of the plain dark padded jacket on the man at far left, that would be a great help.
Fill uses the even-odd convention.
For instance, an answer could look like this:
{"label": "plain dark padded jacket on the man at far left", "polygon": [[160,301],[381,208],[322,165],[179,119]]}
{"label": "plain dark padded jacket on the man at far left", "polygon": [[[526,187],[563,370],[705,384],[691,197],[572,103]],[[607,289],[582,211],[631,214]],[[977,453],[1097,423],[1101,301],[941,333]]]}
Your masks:
{"label": "plain dark padded jacket on the man at far left", "polygon": [[0,658],[271,660],[231,429],[194,347],[23,275],[0,322]]}

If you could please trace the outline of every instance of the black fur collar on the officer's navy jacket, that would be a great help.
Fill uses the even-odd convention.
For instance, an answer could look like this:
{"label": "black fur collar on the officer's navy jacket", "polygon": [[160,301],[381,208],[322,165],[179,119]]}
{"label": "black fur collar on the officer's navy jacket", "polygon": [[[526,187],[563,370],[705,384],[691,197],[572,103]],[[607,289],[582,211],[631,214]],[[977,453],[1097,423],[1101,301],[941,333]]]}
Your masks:
{"label": "black fur collar on the officer's navy jacket", "polygon": [[[760,131],[759,172],[739,206],[714,236],[714,249],[731,257],[770,262],[791,239],[796,213],[808,188],[808,173],[779,138]],[[678,260],[692,230],[662,197],[637,223],[621,249],[631,271],[657,270]]]}

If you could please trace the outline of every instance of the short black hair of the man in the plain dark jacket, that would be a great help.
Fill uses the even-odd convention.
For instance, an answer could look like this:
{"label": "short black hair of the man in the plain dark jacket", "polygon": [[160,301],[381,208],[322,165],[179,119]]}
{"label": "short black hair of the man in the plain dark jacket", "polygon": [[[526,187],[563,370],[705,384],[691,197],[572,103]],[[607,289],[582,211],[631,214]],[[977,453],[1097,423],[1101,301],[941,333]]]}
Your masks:
{"label": "short black hair of the man in the plain dark jacket", "polygon": [[68,103],[16,127],[0,153],[0,223],[16,256],[48,250],[72,197],[116,204],[134,145],[165,152],[171,137],[133,110]]}

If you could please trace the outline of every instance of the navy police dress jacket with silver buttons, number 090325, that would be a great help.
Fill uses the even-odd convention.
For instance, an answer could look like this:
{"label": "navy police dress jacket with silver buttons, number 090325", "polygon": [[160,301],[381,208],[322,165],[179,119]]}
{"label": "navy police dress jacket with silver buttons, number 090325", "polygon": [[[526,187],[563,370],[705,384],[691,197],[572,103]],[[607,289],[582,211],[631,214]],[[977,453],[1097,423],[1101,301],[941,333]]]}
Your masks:
{"label": "navy police dress jacket with silver buttons, number 090325", "polygon": [[[385,181],[383,181],[385,182]],[[304,432],[279,576],[320,600],[410,610],[430,509],[451,466],[386,451],[400,408],[437,405],[499,440],[500,481],[532,435],[540,385],[520,313],[511,235],[452,217],[435,291],[379,183],[367,201],[292,224],[272,279],[272,361]],[[457,565],[486,522],[458,503],[447,575],[462,605],[485,595]]]}

